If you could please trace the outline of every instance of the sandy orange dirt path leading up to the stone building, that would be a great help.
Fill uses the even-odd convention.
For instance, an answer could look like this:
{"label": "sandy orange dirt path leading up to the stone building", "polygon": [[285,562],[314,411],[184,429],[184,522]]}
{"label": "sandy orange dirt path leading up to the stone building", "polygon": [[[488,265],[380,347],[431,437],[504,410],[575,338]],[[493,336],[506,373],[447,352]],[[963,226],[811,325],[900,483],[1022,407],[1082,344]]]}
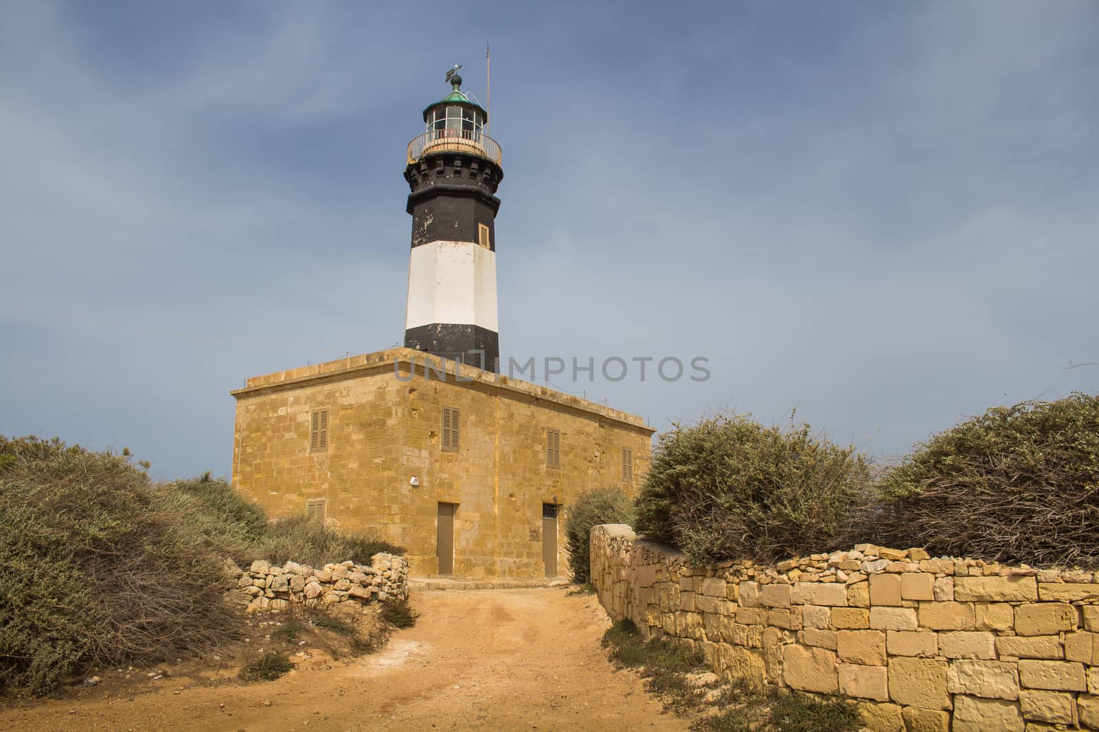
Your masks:
{"label": "sandy orange dirt path leading up to the stone building", "polygon": [[263,684],[5,709],[0,729],[687,729],[608,664],[599,638],[609,621],[592,596],[429,592],[412,603],[420,622],[376,655]]}

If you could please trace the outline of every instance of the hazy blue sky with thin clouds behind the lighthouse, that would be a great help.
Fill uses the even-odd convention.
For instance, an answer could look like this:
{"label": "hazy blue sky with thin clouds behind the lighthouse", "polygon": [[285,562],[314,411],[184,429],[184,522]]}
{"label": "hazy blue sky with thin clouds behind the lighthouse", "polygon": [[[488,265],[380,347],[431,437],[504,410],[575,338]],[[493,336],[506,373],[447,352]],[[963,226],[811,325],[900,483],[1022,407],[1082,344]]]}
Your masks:
{"label": "hazy blue sky with thin clouds behind the lighthouse", "polygon": [[246,378],[401,341],[406,146],[486,43],[504,359],[881,461],[1099,392],[1091,0],[2,13],[0,433],[223,475]]}

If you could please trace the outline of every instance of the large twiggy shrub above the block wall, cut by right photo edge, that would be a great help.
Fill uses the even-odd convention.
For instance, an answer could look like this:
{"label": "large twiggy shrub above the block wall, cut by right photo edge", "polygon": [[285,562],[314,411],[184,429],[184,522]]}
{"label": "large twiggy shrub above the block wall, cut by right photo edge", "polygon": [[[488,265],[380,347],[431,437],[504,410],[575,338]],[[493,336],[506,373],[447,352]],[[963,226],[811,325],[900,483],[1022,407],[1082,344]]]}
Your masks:
{"label": "large twiggy shrub above the block wall, cut by right photo edge", "polygon": [[919,446],[877,493],[881,543],[1099,568],[1099,396],[988,409]]}

